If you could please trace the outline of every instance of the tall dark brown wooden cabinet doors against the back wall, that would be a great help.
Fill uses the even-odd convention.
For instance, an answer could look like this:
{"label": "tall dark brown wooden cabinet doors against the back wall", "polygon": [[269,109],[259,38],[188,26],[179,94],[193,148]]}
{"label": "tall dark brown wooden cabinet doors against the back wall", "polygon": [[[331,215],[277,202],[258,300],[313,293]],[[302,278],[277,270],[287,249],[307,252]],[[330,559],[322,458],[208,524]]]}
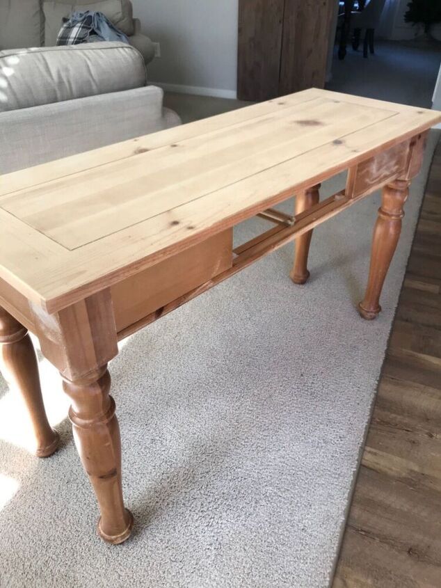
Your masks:
{"label": "tall dark brown wooden cabinet doors against the back wall", "polygon": [[240,100],[323,88],[337,0],[239,0]]}

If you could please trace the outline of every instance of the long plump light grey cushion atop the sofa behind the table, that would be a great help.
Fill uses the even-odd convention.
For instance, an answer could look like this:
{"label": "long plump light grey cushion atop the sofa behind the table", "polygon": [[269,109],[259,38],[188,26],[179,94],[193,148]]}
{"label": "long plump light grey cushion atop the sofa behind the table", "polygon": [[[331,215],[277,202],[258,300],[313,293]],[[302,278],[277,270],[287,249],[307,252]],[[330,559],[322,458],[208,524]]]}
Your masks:
{"label": "long plump light grey cushion atop the sofa behind the table", "polygon": [[125,43],[0,51],[0,112],[131,90],[146,82],[143,57]]}

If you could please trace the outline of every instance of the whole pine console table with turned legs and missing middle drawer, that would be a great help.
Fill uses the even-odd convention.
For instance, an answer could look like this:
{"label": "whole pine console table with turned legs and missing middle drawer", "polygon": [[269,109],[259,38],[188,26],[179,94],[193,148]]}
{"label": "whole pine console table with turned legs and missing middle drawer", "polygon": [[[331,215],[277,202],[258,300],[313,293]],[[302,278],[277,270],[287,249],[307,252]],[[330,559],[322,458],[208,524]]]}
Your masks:
{"label": "whole pine console table with turned legs and missing middle drawer", "polygon": [[[35,333],[72,399],[103,539],[121,543],[133,525],[109,396],[118,340],[294,239],[291,278],[305,283],[312,229],[384,186],[359,306],[374,319],[408,186],[440,120],[311,89],[0,178],[3,373],[24,396],[37,454],[53,453]],[[319,183],[342,170],[346,189],[319,202]],[[294,216],[271,208],[294,195]],[[233,249],[232,228],[256,214],[271,228]]]}

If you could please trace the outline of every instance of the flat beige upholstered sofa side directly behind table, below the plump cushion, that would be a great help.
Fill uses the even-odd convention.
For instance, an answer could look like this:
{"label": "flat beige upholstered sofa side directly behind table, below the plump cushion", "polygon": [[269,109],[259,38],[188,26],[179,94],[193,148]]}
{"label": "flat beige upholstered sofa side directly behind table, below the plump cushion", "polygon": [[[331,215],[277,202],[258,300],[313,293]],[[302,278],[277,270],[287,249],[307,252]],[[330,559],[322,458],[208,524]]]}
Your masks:
{"label": "flat beige upholstered sofa side directly behind table, below the plump cushion", "polygon": [[0,174],[179,125],[162,98],[145,86],[0,112]]}

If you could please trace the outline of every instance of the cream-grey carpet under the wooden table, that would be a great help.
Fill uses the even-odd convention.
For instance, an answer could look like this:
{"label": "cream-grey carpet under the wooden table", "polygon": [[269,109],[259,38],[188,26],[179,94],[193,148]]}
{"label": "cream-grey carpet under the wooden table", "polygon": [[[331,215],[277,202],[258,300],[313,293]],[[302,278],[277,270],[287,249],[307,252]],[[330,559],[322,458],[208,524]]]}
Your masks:
{"label": "cream-grey carpet under the wooden table", "polygon": [[[110,371],[136,525],[121,546],[95,532],[58,374],[40,355],[63,439],[45,460],[0,378],[1,588],[329,585],[436,138],[376,321],[355,305],[378,193],[314,230],[307,285],[289,279],[286,246],[122,342]],[[236,239],[266,228],[243,223]]]}

